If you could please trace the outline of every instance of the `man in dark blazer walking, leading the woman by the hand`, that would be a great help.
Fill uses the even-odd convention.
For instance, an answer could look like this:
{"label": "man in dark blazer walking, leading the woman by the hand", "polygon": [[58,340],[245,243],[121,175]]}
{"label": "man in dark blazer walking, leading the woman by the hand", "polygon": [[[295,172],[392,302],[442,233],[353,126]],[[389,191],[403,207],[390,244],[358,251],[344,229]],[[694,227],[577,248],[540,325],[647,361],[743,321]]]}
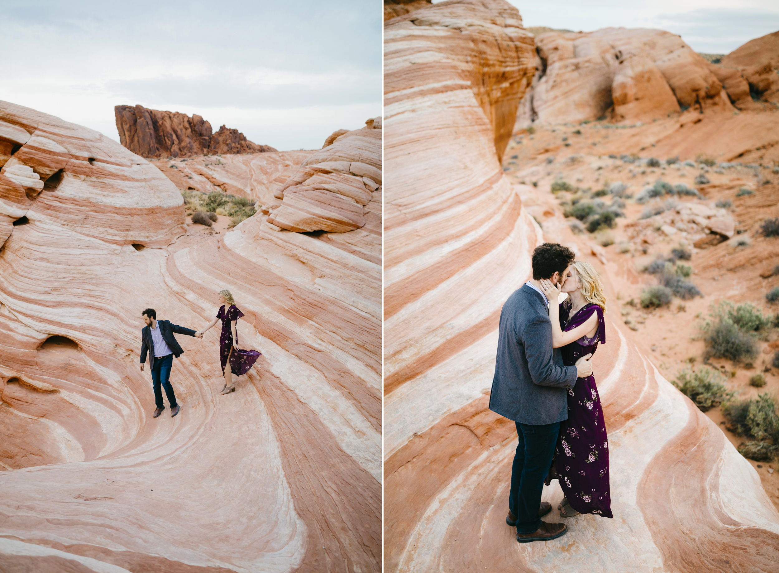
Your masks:
{"label": "man in dark blazer walking, leading the woman by the hand", "polygon": [[141,372],[143,372],[143,364],[146,363],[146,352],[148,352],[151,379],[154,386],[154,401],[157,404],[154,417],[160,416],[165,409],[160,390],[161,385],[167,394],[167,401],[171,404],[172,418],[178,414],[179,406],[171,386],[171,366],[173,366],[173,357],[178,358],[184,352],[173,333],[196,336],[197,338],[203,338],[203,333],[180,327],[178,324],[171,324],[170,320],[157,320],[157,311],[154,309],[144,310],[141,316],[143,316],[143,322],[146,323],[146,327],[141,331]]}

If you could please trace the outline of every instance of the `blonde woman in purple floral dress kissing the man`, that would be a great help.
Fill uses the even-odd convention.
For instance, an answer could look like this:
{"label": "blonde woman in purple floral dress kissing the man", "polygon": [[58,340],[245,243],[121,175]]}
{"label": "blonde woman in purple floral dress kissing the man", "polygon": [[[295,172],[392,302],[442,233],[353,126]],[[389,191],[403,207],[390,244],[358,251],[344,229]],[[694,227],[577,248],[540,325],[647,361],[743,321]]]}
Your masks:
{"label": "blonde woman in purple floral dress kissing the man", "polygon": [[[566,366],[585,354],[594,354],[606,342],[603,312],[606,299],[601,278],[594,267],[582,261],[571,265],[562,288],[541,281],[547,298],[556,301],[560,292],[568,299],[549,305],[552,345],[560,348]],[[608,436],[595,378],[579,378],[568,390],[568,419],[560,423],[555,447],[554,470],[565,497],[559,504],[564,518],[591,513],[612,518],[608,480]],[[549,478],[548,478],[549,479]]]}

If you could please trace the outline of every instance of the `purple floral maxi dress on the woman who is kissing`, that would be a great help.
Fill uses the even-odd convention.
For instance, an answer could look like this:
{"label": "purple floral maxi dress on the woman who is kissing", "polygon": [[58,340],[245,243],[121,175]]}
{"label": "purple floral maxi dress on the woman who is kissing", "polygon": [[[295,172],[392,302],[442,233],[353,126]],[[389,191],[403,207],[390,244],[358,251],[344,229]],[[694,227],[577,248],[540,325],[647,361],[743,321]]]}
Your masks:
{"label": "purple floral maxi dress on the woman who is kissing", "polygon": [[[562,331],[576,328],[592,313],[597,313],[598,327],[593,338],[583,336],[560,348],[563,362],[566,366],[573,366],[581,356],[594,354],[598,343],[605,344],[603,310],[588,303],[569,317],[570,300],[561,302],[559,308]],[[560,423],[555,470],[562,493],[573,509],[579,513],[613,517],[608,486],[608,437],[601,398],[591,374],[576,380],[576,385],[568,390],[568,419]]]}

